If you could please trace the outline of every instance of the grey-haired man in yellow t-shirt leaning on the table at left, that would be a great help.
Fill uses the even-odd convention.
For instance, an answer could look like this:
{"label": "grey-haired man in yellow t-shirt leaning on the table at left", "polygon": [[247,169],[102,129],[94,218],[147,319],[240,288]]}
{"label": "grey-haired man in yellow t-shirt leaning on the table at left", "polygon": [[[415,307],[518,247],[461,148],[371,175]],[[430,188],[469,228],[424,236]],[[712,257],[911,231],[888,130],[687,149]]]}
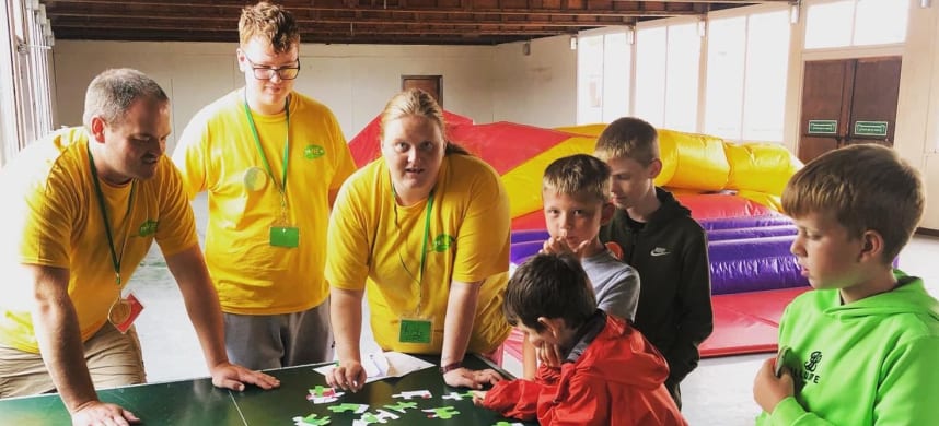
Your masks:
{"label": "grey-haired man in yellow t-shirt leaning on the table at left", "polygon": [[97,75],[84,127],[27,146],[0,171],[0,398],[58,391],[77,425],[126,424],[95,387],[144,381],[134,298],[121,294],[155,240],[216,386],[279,386],[229,363],[193,211],[163,156],[170,100],[139,71]]}

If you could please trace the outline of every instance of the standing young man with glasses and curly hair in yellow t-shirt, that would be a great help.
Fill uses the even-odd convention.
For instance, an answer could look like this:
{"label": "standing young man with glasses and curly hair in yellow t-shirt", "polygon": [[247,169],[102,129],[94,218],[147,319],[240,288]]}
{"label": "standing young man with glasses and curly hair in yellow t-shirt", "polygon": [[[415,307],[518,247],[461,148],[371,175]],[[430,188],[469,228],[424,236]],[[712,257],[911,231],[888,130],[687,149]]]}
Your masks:
{"label": "standing young man with glasses and curly hair in yellow t-shirt", "polygon": [[257,369],[331,360],[326,222],[355,163],[333,113],[293,91],[293,15],[245,7],[239,35],[245,86],[202,108],[173,155],[189,197],[208,192],[206,260],[225,346]]}

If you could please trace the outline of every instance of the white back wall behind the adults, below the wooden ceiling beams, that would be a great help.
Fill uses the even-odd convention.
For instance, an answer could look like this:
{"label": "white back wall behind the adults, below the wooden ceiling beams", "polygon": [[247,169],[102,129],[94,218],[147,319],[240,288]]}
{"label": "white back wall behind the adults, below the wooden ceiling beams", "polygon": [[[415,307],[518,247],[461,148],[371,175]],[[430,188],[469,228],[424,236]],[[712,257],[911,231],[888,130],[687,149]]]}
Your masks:
{"label": "white back wall behind the adults, below the wooden ceiling beams", "polygon": [[[401,90],[401,76],[443,75],[444,108],[476,122],[552,127],[576,119],[576,54],[567,37],[491,46],[301,46],[295,88],[333,109],[355,137]],[[84,91],[107,68],[130,67],[155,79],[173,102],[179,133],[204,105],[240,87],[236,44],[61,40],[54,49],[58,125],[81,122]],[[560,51],[553,55],[552,51]],[[174,140],[171,138],[172,150]]]}

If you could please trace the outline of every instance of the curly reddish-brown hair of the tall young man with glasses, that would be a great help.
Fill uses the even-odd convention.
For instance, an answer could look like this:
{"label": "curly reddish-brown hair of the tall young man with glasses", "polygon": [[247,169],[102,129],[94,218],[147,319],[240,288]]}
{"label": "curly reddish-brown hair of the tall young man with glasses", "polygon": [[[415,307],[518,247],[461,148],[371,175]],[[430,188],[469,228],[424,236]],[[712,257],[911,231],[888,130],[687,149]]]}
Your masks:
{"label": "curly reddish-brown hair of the tall young man with glasses", "polygon": [[254,37],[270,42],[274,51],[282,54],[300,44],[300,29],[293,14],[279,4],[262,1],[241,10],[237,34],[242,46]]}

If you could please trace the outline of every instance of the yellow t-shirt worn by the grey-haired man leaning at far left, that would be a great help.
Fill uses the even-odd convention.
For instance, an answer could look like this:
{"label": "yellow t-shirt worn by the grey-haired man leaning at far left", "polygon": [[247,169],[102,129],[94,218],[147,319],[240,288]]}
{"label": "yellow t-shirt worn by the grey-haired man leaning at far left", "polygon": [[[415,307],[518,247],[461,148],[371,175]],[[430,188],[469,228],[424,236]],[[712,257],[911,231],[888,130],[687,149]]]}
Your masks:
{"label": "yellow t-shirt worn by the grey-haired man leaning at far left", "polygon": [[[0,221],[0,343],[38,353],[33,330],[33,281],[22,264],[69,270],[69,297],[82,341],[107,321],[107,311],[155,239],[164,256],[198,244],[193,210],[179,173],[163,156],[153,178],[104,193],[121,285],[115,280],[104,220],[92,180],[84,128],[68,128],[27,146],[0,171],[8,200]],[[142,300],[146,304],[146,300]]]}

